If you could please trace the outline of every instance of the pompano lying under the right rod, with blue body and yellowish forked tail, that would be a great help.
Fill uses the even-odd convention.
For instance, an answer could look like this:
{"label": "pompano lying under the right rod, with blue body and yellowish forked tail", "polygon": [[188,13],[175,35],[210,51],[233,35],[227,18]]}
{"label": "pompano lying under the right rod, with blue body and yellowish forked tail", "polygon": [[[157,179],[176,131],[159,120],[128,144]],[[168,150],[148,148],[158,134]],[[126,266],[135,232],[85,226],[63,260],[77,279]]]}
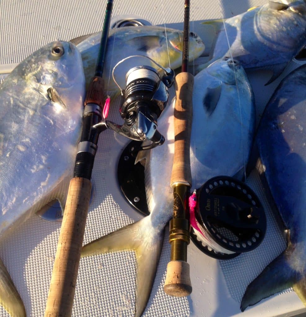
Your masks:
{"label": "pompano lying under the right rod, with blue body and yellowish forked tail", "polygon": [[[237,100],[240,100],[241,109]],[[173,111],[174,102],[160,119],[165,143],[146,152],[145,186],[150,215],[87,244],[82,250],[82,257],[135,251],[135,316],[142,315],[149,300],[164,228],[173,214],[170,188],[174,153]],[[193,118],[190,155],[193,186],[198,188],[213,176],[240,174],[252,144],[255,104],[247,76],[238,62],[219,60],[195,76]]]}

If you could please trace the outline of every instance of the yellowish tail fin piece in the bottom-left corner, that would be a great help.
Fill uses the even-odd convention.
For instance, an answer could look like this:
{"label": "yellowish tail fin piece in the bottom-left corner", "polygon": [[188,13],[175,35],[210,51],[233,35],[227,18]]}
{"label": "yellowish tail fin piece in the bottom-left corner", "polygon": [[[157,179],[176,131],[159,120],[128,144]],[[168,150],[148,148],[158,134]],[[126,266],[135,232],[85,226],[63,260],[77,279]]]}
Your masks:
{"label": "yellowish tail fin piece in the bottom-left corner", "polygon": [[15,288],[15,285],[0,260],[0,305],[12,317],[25,317],[26,312],[23,302]]}

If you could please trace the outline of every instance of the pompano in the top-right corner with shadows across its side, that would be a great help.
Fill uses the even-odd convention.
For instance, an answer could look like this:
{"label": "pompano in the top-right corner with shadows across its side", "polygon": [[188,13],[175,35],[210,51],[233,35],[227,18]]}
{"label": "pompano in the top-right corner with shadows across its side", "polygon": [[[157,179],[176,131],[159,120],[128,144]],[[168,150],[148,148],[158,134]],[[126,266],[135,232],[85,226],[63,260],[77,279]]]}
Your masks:
{"label": "pompano in the top-right corner with shadows across its side", "polygon": [[203,24],[213,25],[217,36],[210,53],[211,61],[198,69],[228,56],[238,60],[244,69],[272,70],[273,75],[268,81],[270,83],[283,72],[287,63],[306,43],[306,2],[269,2],[226,19],[225,27],[223,20]]}

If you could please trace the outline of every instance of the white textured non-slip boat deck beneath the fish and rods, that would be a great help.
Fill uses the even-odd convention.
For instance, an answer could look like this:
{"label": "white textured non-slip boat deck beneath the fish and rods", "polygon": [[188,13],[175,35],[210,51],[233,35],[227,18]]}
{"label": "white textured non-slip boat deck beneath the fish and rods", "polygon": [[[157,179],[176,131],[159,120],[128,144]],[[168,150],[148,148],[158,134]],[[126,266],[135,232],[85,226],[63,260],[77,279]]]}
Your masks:
{"label": "white textured non-slip boat deck beneath the fish and rods", "polygon": [[[97,0],[0,1],[0,67],[3,64],[19,63],[45,43],[58,39],[69,40],[99,31],[105,3]],[[194,0],[191,2],[190,30],[202,37],[207,51],[214,36],[212,30],[203,29],[199,21],[231,17],[264,3],[266,1],[263,0]],[[182,7],[182,1],[178,0],[115,1],[112,16],[133,14],[156,25],[165,24],[167,27],[183,29]],[[290,63],[282,78],[297,66],[298,63]],[[262,80],[251,73],[249,78],[251,82]],[[280,80],[265,87],[253,86],[257,123]],[[110,109],[110,120],[120,122],[118,108],[119,101],[116,100]],[[84,243],[141,218],[124,201],[116,181],[117,160],[126,144],[125,139],[115,136],[111,131],[100,136],[92,174],[94,199],[90,205]],[[170,257],[166,230],[160,263],[144,316],[222,317],[242,314],[239,305],[245,288],[285,248],[285,240],[256,173],[250,175],[248,184],[259,195],[267,213],[267,235],[263,243],[252,252],[223,262],[199,253],[190,243],[188,262],[191,269],[197,268],[191,271],[194,292],[192,297],[174,298],[163,292]],[[34,216],[0,243],[0,256],[23,299],[28,317],[41,317],[44,314],[59,232],[60,223],[46,222]],[[81,259],[72,316],[133,316],[135,266],[133,252]],[[284,290],[283,293],[289,291]],[[297,298],[294,300],[292,306],[302,307]],[[267,312],[264,306],[254,313],[248,310],[242,316],[278,316],[282,313],[276,307],[269,309]],[[0,317],[4,316],[8,317],[9,314],[0,307]]]}

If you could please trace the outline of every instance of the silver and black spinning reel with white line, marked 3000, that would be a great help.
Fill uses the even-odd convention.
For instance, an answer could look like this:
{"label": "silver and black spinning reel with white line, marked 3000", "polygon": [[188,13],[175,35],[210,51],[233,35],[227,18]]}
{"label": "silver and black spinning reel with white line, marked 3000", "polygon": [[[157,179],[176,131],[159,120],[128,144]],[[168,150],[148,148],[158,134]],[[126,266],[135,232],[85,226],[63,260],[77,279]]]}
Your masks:
{"label": "silver and black spinning reel with white line, marked 3000", "polygon": [[[132,57],[145,57],[163,69],[163,75],[147,65],[131,68],[125,76],[126,88],[123,90],[114,77],[114,72],[119,64]],[[120,114],[124,120],[122,125],[106,120],[103,124],[108,129],[114,130],[135,141],[152,141],[151,144],[139,149],[150,149],[162,145],[165,141],[163,135],[157,131],[157,119],[163,112],[169,98],[168,88],[174,81],[174,71],[163,68],[151,58],[143,55],[132,55],[119,61],[112,72],[113,80],[120,88],[123,97]]]}

